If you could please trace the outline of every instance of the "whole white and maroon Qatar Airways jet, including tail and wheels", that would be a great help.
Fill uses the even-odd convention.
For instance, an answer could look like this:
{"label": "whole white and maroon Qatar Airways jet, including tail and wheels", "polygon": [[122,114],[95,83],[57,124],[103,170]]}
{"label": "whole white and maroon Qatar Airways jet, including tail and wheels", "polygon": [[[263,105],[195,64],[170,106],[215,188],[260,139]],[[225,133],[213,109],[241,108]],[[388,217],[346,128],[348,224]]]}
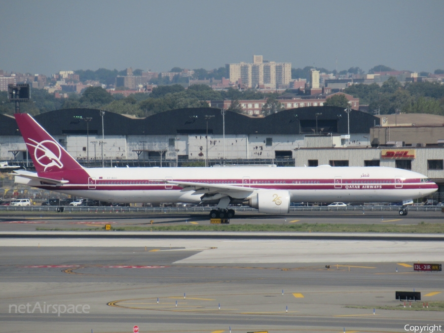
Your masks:
{"label": "whole white and maroon Qatar Airways jet, including tail and wheels", "polygon": [[16,183],[108,202],[217,203],[210,217],[231,218],[230,203],[287,214],[291,202],[394,202],[438,189],[424,175],[389,167],[85,168],[29,114],[15,119],[37,171],[15,171]]}

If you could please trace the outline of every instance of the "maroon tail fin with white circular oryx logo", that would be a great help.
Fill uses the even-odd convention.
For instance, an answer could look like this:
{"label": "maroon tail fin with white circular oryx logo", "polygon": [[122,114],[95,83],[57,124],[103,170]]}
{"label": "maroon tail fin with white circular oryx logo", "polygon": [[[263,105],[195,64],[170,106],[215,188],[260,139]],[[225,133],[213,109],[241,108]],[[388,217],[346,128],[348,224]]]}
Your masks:
{"label": "maroon tail fin with white circular oryx logo", "polygon": [[39,176],[85,184],[88,173],[28,113],[15,113],[15,120]]}

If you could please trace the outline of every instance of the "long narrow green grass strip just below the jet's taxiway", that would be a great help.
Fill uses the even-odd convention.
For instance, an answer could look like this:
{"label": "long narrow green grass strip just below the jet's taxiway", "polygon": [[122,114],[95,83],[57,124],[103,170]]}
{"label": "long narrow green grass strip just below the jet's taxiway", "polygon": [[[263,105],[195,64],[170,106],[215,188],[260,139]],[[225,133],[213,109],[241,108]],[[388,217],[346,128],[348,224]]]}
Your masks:
{"label": "long narrow green grass strip just below the jet's taxiway", "polygon": [[[102,228],[45,228],[36,230],[69,231],[69,230],[101,230]],[[336,224],[336,223],[301,223],[301,224],[176,224],[150,226],[111,226],[117,231],[267,231],[267,232],[393,232],[393,233],[444,233],[442,223],[419,224]]]}

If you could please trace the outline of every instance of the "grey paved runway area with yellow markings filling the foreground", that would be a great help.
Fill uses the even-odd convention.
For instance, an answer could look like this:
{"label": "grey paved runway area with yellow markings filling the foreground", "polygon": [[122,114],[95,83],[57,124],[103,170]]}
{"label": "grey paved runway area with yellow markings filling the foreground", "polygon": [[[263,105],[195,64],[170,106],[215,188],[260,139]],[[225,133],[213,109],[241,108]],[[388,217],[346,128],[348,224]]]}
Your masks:
{"label": "grey paved runway area with yellow markings filling the foreground", "polygon": [[[2,333],[120,333],[134,325],[152,333],[444,326],[443,312],[422,308],[423,301],[444,301],[443,272],[412,267],[418,260],[440,262],[442,240],[41,235],[1,238],[0,251]],[[395,300],[395,291],[413,289],[421,292],[421,301],[413,302],[418,311]],[[27,313],[37,302],[42,310],[50,304],[51,313],[38,306]],[[70,304],[78,313],[58,316]],[[400,304],[401,310],[378,308]]]}

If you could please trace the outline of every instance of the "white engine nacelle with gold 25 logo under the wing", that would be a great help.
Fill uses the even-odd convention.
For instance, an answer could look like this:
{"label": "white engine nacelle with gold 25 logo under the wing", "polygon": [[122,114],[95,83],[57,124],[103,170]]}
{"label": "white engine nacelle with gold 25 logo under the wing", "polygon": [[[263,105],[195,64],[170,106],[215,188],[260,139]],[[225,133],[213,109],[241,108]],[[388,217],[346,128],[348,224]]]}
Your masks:
{"label": "white engine nacelle with gold 25 logo under the wing", "polygon": [[290,212],[290,193],[285,190],[260,190],[249,199],[249,205],[259,213],[287,214]]}

